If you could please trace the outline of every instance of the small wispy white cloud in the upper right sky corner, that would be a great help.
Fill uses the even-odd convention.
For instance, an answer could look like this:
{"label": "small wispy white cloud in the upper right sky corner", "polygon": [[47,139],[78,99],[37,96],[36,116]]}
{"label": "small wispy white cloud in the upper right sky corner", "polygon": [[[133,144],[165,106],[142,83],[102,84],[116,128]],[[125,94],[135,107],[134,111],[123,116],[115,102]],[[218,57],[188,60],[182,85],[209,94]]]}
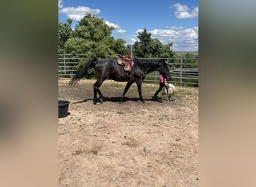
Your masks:
{"label": "small wispy white cloud in the upper right sky corner", "polygon": [[186,4],[176,3],[171,6],[171,8],[173,7],[176,8],[174,15],[177,19],[198,17],[198,7],[193,8],[190,12],[191,8],[187,7]]}

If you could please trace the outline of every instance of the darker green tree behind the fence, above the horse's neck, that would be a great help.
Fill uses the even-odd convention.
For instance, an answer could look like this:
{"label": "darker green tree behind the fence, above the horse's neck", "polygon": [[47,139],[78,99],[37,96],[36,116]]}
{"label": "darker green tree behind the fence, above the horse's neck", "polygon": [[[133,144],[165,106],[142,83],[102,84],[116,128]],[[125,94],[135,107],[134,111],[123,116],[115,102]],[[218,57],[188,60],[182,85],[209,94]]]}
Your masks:
{"label": "darker green tree behind the fence, above the horse's neck", "polygon": [[163,45],[158,39],[152,39],[147,29],[138,32],[138,39],[133,44],[132,53],[138,58],[174,58],[174,52],[171,50],[173,43]]}

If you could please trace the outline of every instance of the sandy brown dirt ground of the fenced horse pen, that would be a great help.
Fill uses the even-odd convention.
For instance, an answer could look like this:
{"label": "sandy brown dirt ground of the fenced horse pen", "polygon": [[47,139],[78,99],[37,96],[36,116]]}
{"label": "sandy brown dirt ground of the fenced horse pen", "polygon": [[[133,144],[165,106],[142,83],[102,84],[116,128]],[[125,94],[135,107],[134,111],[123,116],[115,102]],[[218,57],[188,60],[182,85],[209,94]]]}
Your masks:
{"label": "sandy brown dirt ground of the fenced horse pen", "polygon": [[[58,120],[59,186],[198,186],[198,88],[179,88],[174,102],[152,101],[158,85],[106,81],[94,105],[94,80],[75,86],[59,79],[59,99],[70,101]],[[159,93],[161,96],[161,93]]]}

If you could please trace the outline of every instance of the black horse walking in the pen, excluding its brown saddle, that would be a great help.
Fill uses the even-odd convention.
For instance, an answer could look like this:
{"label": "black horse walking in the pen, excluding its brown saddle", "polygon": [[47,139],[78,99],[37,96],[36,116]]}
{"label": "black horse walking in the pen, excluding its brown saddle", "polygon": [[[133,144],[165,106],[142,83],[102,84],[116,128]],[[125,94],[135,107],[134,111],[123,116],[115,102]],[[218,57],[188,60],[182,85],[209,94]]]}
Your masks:
{"label": "black horse walking in the pen, excluding its brown saddle", "polygon": [[99,93],[100,102],[103,101],[103,93],[100,91],[100,86],[108,77],[117,82],[127,82],[121,99],[124,99],[124,95],[127,93],[132,83],[136,82],[139,98],[144,102],[141,94],[141,84],[145,76],[147,73],[157,70],[165,79],[169,80],[171,76],[168,70],[168,63],[165,60],[146,60],[138,58],[132,58],[132,60],[134,61],[134,65],[132,71],[128,73],[124,71],[124,66],[119,65],[116,59],[104,58],[97,60],[97,58],[94,58],[88,61],[88,63],[76,73],[76,76],[70,80],[69,85],[75,85],[76,82],[79,82],[79,80],[86,75],[89,68],[94,67],[97,76],[97,82],[94,83],[94,104],[97,103],[97,93]]}

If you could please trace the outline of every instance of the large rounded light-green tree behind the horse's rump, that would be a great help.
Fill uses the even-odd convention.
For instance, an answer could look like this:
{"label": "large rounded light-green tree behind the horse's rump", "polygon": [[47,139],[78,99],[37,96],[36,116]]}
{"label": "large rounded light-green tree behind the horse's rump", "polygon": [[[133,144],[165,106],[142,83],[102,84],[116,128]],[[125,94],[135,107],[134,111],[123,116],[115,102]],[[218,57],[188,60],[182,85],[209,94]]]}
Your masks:
{"label": "large rounded light-green tree behind the horse's rump", "polygon": [[[108,55],[124,54],[125,41],[121,38],[115,40],[111,36],[115,28],[106,25],[103,19],[86,14],[76,25],[72,37],[64,43],[64,52],[71,54],[84,54],[76,69],[79,70],[91,58],[107,58]],[[94,71],[89,70],[87,78],[94,77]]]}

